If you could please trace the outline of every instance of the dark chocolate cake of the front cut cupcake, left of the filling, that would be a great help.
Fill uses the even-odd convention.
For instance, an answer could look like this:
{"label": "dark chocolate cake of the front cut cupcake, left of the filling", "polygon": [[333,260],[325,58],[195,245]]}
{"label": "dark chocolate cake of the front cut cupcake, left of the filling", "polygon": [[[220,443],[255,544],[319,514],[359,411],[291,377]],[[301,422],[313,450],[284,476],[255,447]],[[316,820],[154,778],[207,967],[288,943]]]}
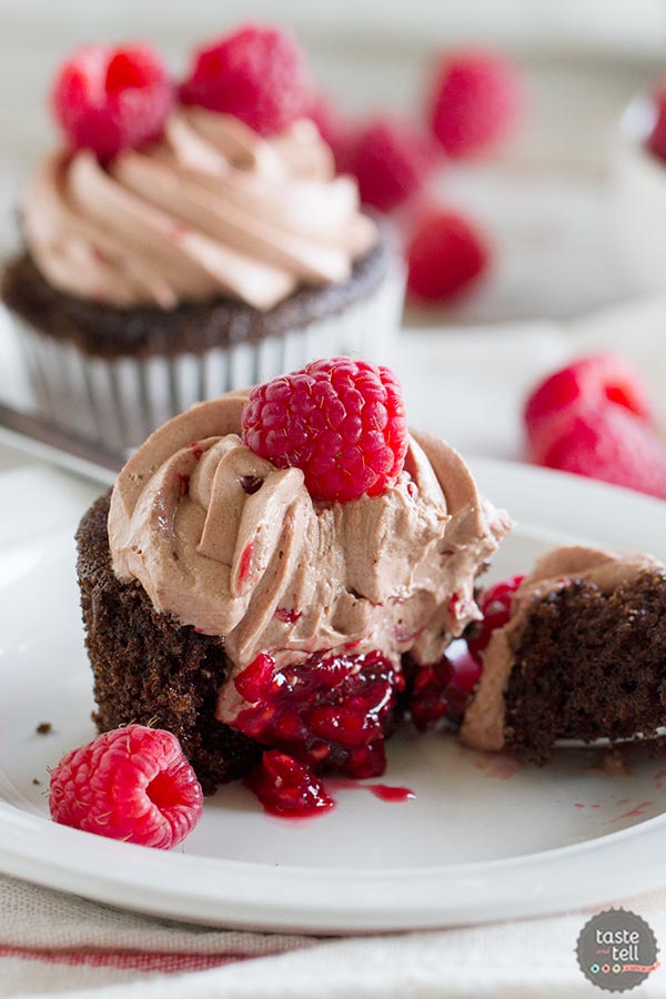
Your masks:
{"label": "dark chocolate cake of the front cut cupcake, left of the filling", "polygon": [[215,718],[230,663],[222,646],[158,614],[139,583],[121,583],[111,567],[110,494],[83,516],[77,533],[85,645],[94,676],[100,731],[131,722],[167,728],[206,794],[245,776],[262,747]]}

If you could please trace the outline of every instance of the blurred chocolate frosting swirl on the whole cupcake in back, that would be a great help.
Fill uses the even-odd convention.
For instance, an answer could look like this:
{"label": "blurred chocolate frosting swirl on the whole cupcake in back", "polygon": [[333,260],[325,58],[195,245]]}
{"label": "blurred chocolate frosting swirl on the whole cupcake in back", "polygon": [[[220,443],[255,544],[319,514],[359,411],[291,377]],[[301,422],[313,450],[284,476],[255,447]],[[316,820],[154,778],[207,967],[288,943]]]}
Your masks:
{"label": "blurred chocolate frosting swirl on the whole cupcake in back", "polygon": [[268,310],[301,285],[346,281],[377,241],[311,121],[269,140],[201,108],[105,168],[89,150],[47,158],[23,225],[51,284],[123,309],[228,295]]}

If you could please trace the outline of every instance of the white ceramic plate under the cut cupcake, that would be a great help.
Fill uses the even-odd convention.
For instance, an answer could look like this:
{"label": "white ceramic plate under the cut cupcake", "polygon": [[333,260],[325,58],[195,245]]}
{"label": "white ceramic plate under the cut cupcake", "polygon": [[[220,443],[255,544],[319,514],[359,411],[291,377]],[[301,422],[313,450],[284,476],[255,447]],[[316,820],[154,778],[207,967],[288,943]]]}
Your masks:
{"label": "white ceramic plate under the cut cupcake", "polygon": [[[664,503],[521,465],[473,464],[483,491],[519,524],[494,576],[563,541],[666,558]],[[391,741],[383,780],[412,788],[406,803],[343,789],[332,813],[287,823],[230,786],[171,854],[53,825],[47,767],[93,736],[71,541],[93,492],[70,485],[65,502],[70,480],[34,474],[11,473],[14,498],[6,491],[0,500],[0,524],[13,517],[11,533],[0,531],[0,869],[165,917],[311,932],[535,915],[666,884],[664,765],[639,760],[613,774],[591,767],[588,753],[562,751],[537,769],[463,749],[452,735]],[[47,490],[68,523],[36,534]],[[52,734],[36,733],[41,722]]]}

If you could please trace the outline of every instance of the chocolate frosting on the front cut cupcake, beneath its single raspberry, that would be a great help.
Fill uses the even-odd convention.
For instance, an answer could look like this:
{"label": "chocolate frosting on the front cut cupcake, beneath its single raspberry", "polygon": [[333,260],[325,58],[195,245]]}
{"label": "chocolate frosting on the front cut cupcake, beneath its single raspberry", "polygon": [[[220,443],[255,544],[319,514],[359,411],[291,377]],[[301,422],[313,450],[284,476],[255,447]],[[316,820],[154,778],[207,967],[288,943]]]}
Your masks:
{"label": "chocolate frosting on the front cut cupcake, beneath its single raspberry", "polygon": [[113,568],[158,612],[215,636],[236,669],[314,652],[438,658],[478,617],[474,578],[511,529],[460,455],[412,433],[405,467],[376,497],[312,500],[299,468],[241,441],[239,392],[158,430],[111,497]]}

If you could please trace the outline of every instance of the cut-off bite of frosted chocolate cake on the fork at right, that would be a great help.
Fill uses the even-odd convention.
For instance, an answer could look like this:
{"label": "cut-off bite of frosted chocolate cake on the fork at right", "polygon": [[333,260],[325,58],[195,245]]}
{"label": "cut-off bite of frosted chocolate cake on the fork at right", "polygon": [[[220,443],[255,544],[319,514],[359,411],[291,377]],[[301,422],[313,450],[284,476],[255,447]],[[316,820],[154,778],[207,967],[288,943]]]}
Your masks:
{"label": "cut-off bite of frosted chocolate cake on the fork at right", "polygon": [[466,745],[543,763],[559,739],[620,741],[666,725],[666,566],[652,556],[555,548],[498,625],[482,642]]}

